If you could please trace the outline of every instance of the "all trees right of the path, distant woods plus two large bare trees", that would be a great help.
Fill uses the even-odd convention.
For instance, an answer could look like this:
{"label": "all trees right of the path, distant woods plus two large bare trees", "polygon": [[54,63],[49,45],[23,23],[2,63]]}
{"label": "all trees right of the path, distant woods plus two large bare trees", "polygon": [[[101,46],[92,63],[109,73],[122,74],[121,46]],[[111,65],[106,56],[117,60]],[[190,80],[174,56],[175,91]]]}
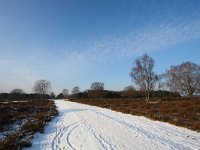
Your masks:
{"label": "all trees right of the path, distant woods plus two large bare trees", "polygon": [[[71,98],[150,98],[199,96],[200,66],[192,62],[183,62],[170,66],[165,72],[157,74],[153,68],[155,61],[147,54],[135,59],[130,77],[134,86],[127,86],[123,91],[104,90],[104,83],[94,82],[89,90],[80,92],[74,87],[68,97]],[[78,90],[77,90],[78,89]],[[136,90],[137,89],[137,90]],[[62,93],[61,95],[62,96]],[[60,98],[60,97],[59,97]]]}

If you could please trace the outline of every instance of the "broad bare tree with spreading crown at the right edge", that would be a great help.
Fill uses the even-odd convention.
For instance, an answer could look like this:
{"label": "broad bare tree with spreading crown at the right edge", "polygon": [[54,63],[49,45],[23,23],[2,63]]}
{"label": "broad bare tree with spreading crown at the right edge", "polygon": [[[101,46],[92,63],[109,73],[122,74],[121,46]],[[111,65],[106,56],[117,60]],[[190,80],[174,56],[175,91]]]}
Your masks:
{"label": "broad bare tree with spreading crown at the right edge", "polygon": [[184,62],[167,70],[167,83],[172,91],[192,96],[200,93],[200,66]]}

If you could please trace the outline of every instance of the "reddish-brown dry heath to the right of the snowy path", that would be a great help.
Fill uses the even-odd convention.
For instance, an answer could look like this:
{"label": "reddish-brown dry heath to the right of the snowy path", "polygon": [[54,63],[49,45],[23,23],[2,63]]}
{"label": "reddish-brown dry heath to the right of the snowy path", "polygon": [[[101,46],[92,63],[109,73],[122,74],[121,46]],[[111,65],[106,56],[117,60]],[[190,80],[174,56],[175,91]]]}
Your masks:
{"label": "reddish-brown dry heath to the right of the snowy path", "polygon": [[200,98],[153,99],[73,99],[71,101],[109,108],[127,114],[145,116],[153,120],[200,131]]}

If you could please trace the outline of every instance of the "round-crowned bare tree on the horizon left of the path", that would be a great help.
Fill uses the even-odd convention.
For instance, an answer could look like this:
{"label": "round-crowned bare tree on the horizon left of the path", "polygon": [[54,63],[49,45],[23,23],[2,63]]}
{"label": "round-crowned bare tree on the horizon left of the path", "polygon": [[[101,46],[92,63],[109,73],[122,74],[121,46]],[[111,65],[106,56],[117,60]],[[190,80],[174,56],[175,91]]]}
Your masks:
{"label": "round-crowned bare tree on the horizon left of the path", "polygon": [[47,80],[38,80],[35,82],[35,85],[33,87],[33,91],[35,93],[40,94],[41,96],[44,96],[45,94],[49,93],[51,90],[51,83]]}

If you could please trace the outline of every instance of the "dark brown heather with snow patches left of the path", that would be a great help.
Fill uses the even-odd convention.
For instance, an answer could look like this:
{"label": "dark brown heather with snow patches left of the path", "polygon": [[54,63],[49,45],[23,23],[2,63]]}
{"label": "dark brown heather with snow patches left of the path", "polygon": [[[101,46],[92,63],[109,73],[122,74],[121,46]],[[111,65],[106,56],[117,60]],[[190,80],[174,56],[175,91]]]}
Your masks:
{"label": "dark brown heather with snow patches left of the path", "polygon": [[0,139],[0,150],[31,146],[33,134],[44,132],[44,126],[57,114],[50,100],[0,103],[0,133],[5,133],[5,138]]}

